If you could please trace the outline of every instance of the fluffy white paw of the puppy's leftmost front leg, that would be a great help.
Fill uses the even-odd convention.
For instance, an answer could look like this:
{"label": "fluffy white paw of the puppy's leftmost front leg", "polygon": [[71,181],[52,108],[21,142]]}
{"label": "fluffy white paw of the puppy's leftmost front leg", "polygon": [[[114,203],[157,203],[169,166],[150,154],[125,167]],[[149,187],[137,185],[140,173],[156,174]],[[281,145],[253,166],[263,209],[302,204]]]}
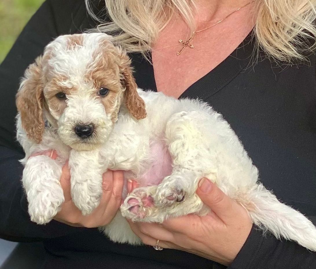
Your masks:
{"label": "fluffy white paw of the puppy's leftmost front leg", "polygon": [[31,221],[37,224],[46,224],[60,211],[64,202],[64,193],[60,185],[52,186],[49,190],[29,193],[28,213]]}

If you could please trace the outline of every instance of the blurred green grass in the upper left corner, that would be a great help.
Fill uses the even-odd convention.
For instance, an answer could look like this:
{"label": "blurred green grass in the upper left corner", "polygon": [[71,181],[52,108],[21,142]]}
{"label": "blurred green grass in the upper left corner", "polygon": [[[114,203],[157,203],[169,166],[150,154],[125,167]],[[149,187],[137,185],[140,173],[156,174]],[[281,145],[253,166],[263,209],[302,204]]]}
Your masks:
{"label": "blurred green grass in the upper left corner", "polygon": [[44,0],[0,0],[0,63],[43,2]]}

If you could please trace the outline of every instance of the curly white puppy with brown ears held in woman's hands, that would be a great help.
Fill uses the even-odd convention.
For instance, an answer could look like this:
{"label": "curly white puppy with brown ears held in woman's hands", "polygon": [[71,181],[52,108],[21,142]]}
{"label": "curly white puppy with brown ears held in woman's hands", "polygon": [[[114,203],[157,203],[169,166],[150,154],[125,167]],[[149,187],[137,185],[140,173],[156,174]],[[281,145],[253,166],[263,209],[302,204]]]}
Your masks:
{"label": "curly white puppy with brown ears held in woman's hands", "polygon": [[[72,200],[83,215],[98,206],[107,169],[137,179],[140,187],[127,194],[125,184],[120,212],[100,227],[113,241],[141,243],[125,218],[162,222],[207,214],[195,194],[205,176],[244,206],[253,223],[316,251],[315,226],[258,182],[257,168],[222,116],[198,100],[137,89],[130,59],[106,34],[52,41],[26,70],[16,104],[33,222],[48,223],[60,210],[59,178],[69,159]],[[48,149],[58,152],[56,160],[29,158]]]}

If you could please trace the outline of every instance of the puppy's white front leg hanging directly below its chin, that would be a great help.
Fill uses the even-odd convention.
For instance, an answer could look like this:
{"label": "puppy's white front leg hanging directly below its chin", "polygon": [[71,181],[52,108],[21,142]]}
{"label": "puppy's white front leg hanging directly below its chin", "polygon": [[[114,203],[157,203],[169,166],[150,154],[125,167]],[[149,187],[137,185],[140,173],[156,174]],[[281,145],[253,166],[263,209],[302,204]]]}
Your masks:
{"label": "puppy's white front leg hanging directly below its chin", "polygon": [[72,200],[82,215],[88,215],[99,205],[102,195],[102,164],[99,162],[99,150],[72,150],[69,166]]}

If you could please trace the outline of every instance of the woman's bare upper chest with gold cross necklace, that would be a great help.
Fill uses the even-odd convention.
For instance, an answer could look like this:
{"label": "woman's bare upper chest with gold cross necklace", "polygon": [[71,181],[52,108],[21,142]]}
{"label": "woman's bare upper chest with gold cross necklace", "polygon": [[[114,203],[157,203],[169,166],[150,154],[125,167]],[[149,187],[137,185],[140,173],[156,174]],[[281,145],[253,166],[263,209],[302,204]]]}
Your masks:
{"label": "woman's bare upper chest with gold cross necklace", "polygon": [[[187,88],[222,63],[253,27],[251,17],[242,18],[243,21],[232,19],[233,25],[223,21],[196,33],[188,44],[190,31],[181,20],[167,25],[151,52],[158,92],[179,98]],[[235,31],[236,28],[240,28],[239,31]]]}

